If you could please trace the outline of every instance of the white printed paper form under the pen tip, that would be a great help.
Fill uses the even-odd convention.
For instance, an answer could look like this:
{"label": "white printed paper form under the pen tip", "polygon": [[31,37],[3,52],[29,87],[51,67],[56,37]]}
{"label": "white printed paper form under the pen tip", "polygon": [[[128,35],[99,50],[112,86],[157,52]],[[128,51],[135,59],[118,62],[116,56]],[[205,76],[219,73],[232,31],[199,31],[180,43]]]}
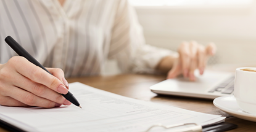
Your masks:
{"label": "white printed paper form under the pen tip", "polygon": [[157,123],[207,125],[225,119],[220,115],[127,98],[79,82],[70,83],[70,92],[83,109],[73,104],[52,109],[0,106],[0,120],[25,131],[131,132],[146,131]]}

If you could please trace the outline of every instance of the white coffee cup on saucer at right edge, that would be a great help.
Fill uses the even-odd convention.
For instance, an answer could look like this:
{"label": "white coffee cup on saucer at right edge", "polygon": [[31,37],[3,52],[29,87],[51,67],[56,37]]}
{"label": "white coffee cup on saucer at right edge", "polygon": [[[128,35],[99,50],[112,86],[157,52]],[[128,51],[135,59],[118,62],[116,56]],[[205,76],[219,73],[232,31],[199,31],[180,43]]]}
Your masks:
{"label": "white coffee cup on saucer at right edge", "polygon": [[234,97],[242,111],[256,114],[256,68],[236,69]]}

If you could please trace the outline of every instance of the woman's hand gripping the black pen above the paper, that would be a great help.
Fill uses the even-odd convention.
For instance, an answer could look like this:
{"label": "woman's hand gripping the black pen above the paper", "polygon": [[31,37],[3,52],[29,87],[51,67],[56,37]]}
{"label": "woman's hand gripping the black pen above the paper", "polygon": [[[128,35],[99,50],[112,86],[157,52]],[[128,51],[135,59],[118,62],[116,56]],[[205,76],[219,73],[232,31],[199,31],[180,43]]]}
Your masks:
{"label": "woman's hand gripping the black pen above the paper", "polygon": [[14,56],[7,63],[1,64],[0,104],[44,108],[70,105],[71,103],[60,95],[68,93],[64,72],[57,68],[47,70],[53,76],[22,56]]}

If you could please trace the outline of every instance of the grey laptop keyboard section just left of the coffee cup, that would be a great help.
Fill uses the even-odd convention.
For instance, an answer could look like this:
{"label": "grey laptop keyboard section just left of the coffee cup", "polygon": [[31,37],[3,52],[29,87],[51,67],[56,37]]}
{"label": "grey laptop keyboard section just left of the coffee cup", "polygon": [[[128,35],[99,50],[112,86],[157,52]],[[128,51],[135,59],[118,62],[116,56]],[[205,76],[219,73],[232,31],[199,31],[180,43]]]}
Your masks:
{"label": "grey laptop keyboard section just left of the coffee cup", "polygon": [[231,95],[234,91],[234,76],[225,80],[225,82],[218,85],[218,87],[213,88],[209,93],[220,92],[224,94]]}

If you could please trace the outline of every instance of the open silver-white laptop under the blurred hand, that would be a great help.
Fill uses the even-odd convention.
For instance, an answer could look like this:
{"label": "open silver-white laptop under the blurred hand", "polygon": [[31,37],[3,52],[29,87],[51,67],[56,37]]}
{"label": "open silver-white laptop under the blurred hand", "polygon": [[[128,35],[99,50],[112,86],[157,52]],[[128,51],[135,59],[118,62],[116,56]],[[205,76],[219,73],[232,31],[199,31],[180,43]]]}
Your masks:
{"label": "open silver-white laptop under the blurred hand", "polygon": [[152,85],[151,91],[163,95],[215,99],[234,94],[234,73],[205,70],[201,76],[195,71],[196,81],[178,77]]}

